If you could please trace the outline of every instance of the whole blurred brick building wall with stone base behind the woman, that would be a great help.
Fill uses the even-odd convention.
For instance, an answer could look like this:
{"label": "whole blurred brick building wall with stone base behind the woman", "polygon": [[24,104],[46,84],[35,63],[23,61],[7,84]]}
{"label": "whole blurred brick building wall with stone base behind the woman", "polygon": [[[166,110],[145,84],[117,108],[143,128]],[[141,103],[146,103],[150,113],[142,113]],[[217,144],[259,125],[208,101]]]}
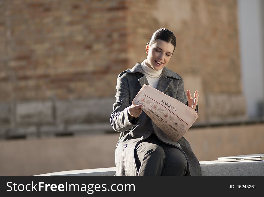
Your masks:
{"label": "whole blurred brick building wall with stone base behind the woman", "polygon": [[0,134],[65,128],[61,102],[82,109],[71,123],[109,121],[117,75],[160,27],[177,38],[168,67],[199,90],[197,122],[243,117],[236,0],[0,0]]}

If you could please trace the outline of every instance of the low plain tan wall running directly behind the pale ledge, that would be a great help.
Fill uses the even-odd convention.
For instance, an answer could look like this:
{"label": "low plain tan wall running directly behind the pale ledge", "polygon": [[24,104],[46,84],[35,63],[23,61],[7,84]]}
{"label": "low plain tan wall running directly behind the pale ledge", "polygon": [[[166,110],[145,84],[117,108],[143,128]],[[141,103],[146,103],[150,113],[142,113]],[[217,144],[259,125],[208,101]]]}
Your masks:
{"label": "low plain tan wall running directly behind the pale ledge", "polygon": [[[191,128],[185,137],[199,161],[264,153],[264,124]],[[0,141],[0,175],[38,175],[115,167],[119,133]]]}

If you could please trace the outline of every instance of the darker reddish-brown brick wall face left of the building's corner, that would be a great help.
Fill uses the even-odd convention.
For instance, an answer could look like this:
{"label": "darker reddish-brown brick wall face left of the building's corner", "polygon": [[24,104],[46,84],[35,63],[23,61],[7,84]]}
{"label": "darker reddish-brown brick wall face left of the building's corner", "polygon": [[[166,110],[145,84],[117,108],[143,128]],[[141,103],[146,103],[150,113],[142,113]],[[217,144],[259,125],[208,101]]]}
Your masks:
{"label": "darker reddish-brown brick wall face left of the building's corner", "polygon": [[1,3],[1,101],[113,96],[127,67],[125,1]]}

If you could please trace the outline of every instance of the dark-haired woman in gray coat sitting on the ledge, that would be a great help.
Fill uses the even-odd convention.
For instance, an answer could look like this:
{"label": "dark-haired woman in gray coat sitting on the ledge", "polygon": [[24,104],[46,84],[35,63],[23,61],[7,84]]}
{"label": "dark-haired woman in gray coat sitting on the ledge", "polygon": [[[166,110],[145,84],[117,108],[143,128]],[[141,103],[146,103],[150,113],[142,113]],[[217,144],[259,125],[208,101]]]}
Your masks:
{"label": "dark-haired woman in gray coat sitting on the ledge", "polygon": [[111,125],[120,132],[116,145],[116,176],[201,175],[199,161],[190,144],[182,137],[172,142],[144,113],[141,105],[132,105],[140,88],[146,84],[185,103],[198,112],[198,91],[194,98],[181,76],[165,67],[176,47],[176,37],[168,29],[155,31],[146,45],[147,58],[117,78],[116,103]]}

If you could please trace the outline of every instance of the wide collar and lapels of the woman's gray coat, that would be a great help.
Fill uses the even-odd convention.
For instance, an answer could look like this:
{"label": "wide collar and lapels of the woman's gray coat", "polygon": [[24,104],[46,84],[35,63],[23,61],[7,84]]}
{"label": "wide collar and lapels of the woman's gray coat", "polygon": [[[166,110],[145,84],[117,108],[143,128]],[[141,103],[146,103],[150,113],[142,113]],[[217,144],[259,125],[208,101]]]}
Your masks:
{"label": "wide collar and lapels of the woman's gray coat", "polygon": [[[141,87],[146,84],[149,85],[149,82],[144,74],[143,69],[141,68],[141,63],[137,63],[133,68],[126,70],[126,73],[141,73],[143,74],[143,76],[138,79]],[[172,70],[164,67],[162,74],[161,74],[161,78],[158,82],[157,85],[157,90],[161,91],[161,92],[165,92],[167,90],[167,88],[169,87],[169,85],[173,82],[173,79],[170,79],[168,77],[172,77],[175,79],[182,79],[177,73],[174,73]]]}

